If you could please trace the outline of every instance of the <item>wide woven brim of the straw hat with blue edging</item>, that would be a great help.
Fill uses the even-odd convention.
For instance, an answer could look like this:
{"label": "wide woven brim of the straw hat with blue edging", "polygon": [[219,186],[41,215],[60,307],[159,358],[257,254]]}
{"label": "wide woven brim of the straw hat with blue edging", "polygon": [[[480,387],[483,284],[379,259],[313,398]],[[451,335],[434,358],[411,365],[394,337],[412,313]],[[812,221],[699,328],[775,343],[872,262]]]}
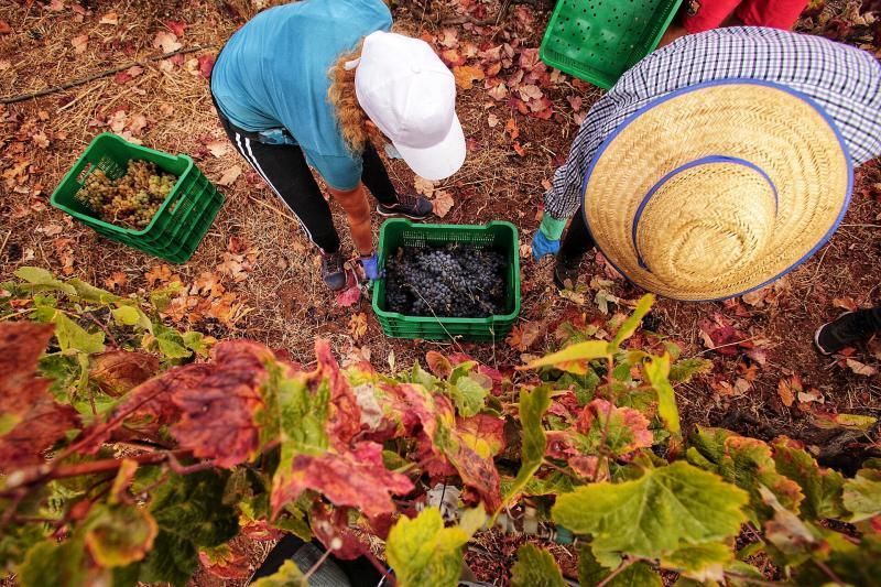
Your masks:
{"label": "wide woven brim of the straw hat with blue edging", "polygon": [[[660,279],[641,263],[634,218],[652,186],[707,156],[750,161],[768,173],[779,191],[773,238],[747,267],[727,271],[708,254],[705,273]],[[675,300],[721,300],[761,287],[814,254],[840,224],[852,185],[847,144],[820,106],[791,88],[729,79],[674,91],[626,120],[590,164],[584,216],[597,247],[637,285]],[[682,197],[713,205],[711,193]],[[667,213],[676,215],[675,205]],[[657,246],[676,240],[657,237]]]}

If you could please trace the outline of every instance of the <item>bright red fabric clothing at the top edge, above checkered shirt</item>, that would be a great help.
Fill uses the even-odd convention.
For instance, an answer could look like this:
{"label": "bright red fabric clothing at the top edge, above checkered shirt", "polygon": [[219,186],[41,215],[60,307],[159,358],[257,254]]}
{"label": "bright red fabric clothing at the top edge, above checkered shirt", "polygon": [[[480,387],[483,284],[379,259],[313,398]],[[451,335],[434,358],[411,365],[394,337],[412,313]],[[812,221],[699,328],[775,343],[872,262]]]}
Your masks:
{"label": "bright red fabric clothing at the top edge, above checkered shirt", "polygon": [[692,0],[685,29],[694,34],[718,29],[731,14],[747,26],[792,29],[807,0]]}

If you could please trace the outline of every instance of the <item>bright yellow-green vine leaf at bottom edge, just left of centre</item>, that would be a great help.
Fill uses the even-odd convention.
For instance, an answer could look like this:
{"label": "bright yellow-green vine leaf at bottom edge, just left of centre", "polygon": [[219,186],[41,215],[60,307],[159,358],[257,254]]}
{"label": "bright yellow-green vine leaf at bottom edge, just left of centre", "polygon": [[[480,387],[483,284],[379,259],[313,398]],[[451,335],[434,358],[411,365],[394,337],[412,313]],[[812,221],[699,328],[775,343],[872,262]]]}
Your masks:
{"label": "bright yellow-green vine leaf at bottom edge, just left of centre", "polygon": [[461,550],[471,528],[444,528],[440,510],[429,508],[414,519],[402,517],[389,532],[385,554],[400,587],[455,587]]}

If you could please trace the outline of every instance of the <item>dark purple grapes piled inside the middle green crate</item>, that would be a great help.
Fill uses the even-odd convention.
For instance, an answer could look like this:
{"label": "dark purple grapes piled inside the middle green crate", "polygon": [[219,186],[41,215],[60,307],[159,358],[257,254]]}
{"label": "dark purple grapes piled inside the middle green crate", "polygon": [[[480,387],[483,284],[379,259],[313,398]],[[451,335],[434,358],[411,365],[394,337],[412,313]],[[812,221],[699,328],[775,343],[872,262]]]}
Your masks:
{"label": "dark purple grapes piled inside the middle green crate", "polygon": [[505,256],[492,249],[401,247],[385,264],[385,304],[410,316],[503,314],[507,268]]}

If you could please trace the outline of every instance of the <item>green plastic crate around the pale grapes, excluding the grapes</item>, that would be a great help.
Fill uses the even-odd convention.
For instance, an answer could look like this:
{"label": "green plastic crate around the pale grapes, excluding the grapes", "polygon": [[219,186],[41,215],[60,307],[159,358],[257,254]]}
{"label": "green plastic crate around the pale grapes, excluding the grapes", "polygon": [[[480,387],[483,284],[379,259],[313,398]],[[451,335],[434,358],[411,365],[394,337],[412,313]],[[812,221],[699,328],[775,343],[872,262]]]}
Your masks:
{"label": "green plastic crate around the pale grapes, excluding the grapes", "polygon": [[[126,173],[129,160],[144,160],[177,177],[168,197],[150,224],[134,230],[105,222],[76,198],[95,170],[104,170],[110,178]],[[52,194],[52,205],[99,235],[172,263],[188,260],[210,228],[224,204],[224,195],[203,175],[187,155],[170,155],[132,144],[121,137],[105,132],[97,135],[62,183]]]}

